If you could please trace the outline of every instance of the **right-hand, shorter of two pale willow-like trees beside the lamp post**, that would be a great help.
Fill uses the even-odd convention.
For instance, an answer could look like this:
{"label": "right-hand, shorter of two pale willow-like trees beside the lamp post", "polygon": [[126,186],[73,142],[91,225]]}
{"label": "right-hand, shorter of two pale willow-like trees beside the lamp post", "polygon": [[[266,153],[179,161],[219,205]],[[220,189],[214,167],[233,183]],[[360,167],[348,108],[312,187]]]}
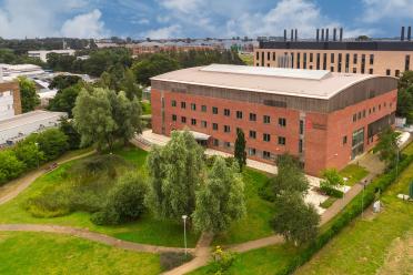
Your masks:
{"label": "right-hand, shorter of two pale willow-like trees beside the lamp post", "polygon": [[244,184],[238,165],[228,167],[216,157],[208,180],[197,192],[193,224],[200,232],[219,233],[245,215]]}

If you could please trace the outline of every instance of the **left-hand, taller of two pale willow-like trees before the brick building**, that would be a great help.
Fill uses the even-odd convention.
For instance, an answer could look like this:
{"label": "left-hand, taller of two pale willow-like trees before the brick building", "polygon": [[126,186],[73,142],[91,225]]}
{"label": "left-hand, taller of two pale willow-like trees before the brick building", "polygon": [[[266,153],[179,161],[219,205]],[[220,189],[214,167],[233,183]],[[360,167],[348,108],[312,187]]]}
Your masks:
{"label": "left-hand, taller of two pale willow-like trees before the brick building", "polygon": [[147,205],[161,218],[180,221],[195,208],[195,190],[204,181],[203,149],[189,131],[172,132],[163,147],[154,147],[147,161]]}

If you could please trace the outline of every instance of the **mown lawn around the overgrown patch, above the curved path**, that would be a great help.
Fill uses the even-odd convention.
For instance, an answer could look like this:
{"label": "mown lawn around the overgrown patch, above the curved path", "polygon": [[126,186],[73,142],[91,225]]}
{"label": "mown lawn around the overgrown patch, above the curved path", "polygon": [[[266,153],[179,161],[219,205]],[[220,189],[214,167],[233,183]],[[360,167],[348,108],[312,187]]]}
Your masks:
{"label": "mown lawn around the overgrown patch, above the curved path", "polygon": [[[114,152],[133,163],[137,169],[142,169],[147,152],[127,147]],[[152,216],[145,215],[140,221],[117,225],[99,226],[90,221],[90,214],[85,212],[74,212],[66,216],[37,218],[24,210],[24,203],[28,197],[41,192],[44,187],[66,181],[64,171],[75,162],[69,162],[57,170],[36,180],[24,192],[14,200],[0,205],[0,223],[34,223],[34,224],[57,224],[89,228],[90,231],[104,233],[125,241],[163,245],[163,246],[183,246],[183,234],[181,221],[155,221]],[[199,234],[189,232],[188,246],[194,247]]]}

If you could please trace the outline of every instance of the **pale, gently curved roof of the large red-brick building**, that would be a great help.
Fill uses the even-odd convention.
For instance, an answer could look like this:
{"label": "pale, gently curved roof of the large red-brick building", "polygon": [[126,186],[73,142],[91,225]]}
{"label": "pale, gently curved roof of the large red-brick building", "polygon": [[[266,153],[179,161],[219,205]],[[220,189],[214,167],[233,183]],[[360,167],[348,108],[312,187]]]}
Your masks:
{"label": "pale, gently curved roof of the large red-brick building", "polygon": [[328,100],[346,88],[373,78],[389,77],[211,64],[168,72],[151,80]]}

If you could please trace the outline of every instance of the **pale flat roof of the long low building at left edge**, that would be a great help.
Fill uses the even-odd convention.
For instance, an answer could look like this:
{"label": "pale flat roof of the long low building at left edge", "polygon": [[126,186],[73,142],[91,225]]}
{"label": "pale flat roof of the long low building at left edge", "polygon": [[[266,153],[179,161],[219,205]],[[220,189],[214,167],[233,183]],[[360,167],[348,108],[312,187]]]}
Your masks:
{"label": "pale flat roof of the long low building at left edge", "polygon": [[67,115],[67,113],[64,112],[49,112],[42,110],[18,114],[13,118],[0,121],[0,132],[8,129],[21,128],[23,125],[28,125],[38,121],[49,120],[57,116],[60,118],[64,115]]}

